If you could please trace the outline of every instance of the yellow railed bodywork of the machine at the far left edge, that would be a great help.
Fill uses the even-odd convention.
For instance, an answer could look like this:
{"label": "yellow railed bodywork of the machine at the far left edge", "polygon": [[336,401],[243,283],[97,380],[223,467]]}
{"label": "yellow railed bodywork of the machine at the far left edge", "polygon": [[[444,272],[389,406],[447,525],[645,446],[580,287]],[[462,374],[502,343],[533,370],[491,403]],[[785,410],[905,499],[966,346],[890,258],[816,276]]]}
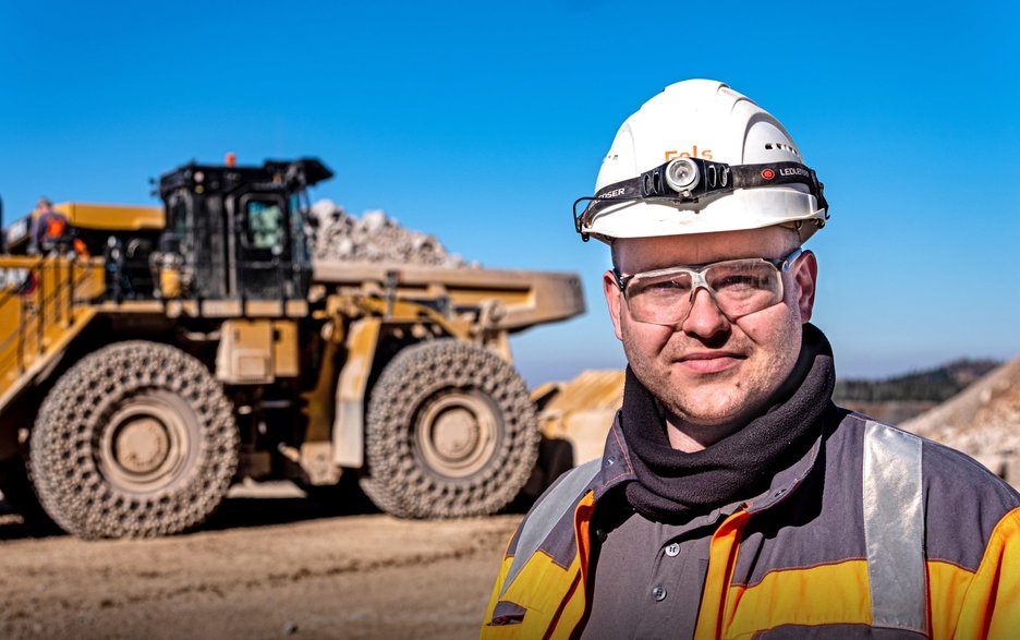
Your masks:
{"label": "yellow railed bodywork of the machine at the far left edge", "polygon": [[0,257],[0,411],[93,318],[101,259]]}

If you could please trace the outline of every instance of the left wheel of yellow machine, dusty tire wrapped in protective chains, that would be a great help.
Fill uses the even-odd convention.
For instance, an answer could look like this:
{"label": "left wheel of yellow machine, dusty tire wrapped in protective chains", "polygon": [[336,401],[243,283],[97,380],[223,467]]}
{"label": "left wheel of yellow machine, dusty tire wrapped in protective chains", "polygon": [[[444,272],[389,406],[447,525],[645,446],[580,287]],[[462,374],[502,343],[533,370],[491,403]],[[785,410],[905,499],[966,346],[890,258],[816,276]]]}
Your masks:
{"label": "left wheel of yellow machine, dusty tire wrapped in protective chains", "polygon": [[42,507],[83,539],[197,527],[226,497],[238,456],[231,404],[209,371],[145,341],[111,345],[71,367],[29,439]]}

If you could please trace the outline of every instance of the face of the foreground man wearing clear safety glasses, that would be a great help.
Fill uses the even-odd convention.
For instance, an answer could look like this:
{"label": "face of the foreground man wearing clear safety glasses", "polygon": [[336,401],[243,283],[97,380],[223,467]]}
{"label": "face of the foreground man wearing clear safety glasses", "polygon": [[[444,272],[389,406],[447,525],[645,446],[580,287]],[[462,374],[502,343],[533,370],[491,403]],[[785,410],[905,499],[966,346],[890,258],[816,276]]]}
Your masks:
{"label": "face of the foreground man wearing clear safety glasses", "polygon": [[[768,227],[696,236],[626,238],[614,243],[624,275],[744,257],[781,258],[798,245],[789,229]],[[696,292],[677,326],[631,317],[610,271],[603,289],[617,338],[638,379],[673,415],[702,426],[737,426],[753,416],[793,370],[801,324],[811,318],[817,265],[803,255],[782,275],[779,304],[736,321],[708,291]]]}

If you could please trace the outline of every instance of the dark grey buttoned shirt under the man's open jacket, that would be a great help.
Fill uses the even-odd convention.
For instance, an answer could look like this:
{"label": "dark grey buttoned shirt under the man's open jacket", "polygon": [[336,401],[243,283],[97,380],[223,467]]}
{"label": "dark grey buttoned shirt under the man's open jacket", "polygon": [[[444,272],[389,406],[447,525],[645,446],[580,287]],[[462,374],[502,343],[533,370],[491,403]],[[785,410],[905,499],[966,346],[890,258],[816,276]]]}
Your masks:
{"label": "dark grey buttoned shirt under the man's open jacket", "polygon": [[600,544],[582,640],[693,638],[712,534],[740,504],[684,524],[655,522],[636,511],[610,530],[596,524],[593,546]]}

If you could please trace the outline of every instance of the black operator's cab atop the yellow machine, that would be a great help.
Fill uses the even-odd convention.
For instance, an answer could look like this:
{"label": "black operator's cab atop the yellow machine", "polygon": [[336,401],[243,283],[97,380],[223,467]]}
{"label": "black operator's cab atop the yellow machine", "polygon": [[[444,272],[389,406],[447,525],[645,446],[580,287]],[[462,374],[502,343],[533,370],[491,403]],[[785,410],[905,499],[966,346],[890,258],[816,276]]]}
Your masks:
{"label": "black operator's cab atop the yellow machine", "polygon": [[162,174],[162,297],[303,300],[312,274],[306,189],[331,176],[315,159],[191,162]]}

